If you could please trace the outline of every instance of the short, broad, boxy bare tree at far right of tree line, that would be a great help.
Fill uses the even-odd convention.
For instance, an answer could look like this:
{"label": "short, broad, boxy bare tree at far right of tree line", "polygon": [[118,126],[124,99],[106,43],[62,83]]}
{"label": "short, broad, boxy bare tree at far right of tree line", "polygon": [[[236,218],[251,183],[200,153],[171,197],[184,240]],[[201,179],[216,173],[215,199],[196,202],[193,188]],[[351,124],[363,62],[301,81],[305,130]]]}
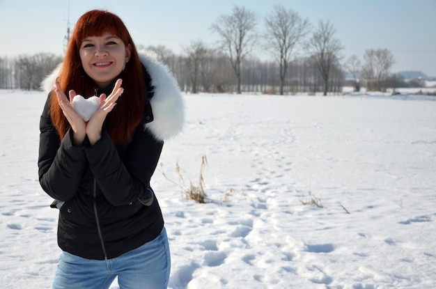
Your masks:
{"label": "short, broad, boxy bare tree at far right of tree line", "polygon": [[388,49],[367,49],[364,54],[362,77],[368,90],[385,91],[394,55]]}

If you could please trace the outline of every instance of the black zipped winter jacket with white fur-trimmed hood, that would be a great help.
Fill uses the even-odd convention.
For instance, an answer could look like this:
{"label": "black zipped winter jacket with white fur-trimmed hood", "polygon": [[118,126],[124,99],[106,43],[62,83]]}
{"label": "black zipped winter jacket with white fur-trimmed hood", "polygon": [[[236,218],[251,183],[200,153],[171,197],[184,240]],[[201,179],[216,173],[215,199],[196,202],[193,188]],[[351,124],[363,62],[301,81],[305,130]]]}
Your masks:
{"label": "black zipped winter jacket with white fur-trimmed hood", "polygon": [[[141,61],[154,90],[128,145],[115,146],[106,130],[93,146],[87,142],[73,146],[71,131],[60,141],[49,116],[51,93],[42,111],[40,185],[49,196],[65,202],[59,210],[58,244],[76,256],[115,258],[154,240],[164,226],[150,178],[164,139],[182,129],[183,103],[166,68],[145,54]],[[46,87],[56,76],[54,72],[46,79]],[[151,205],[139,201],[149,196],[154,197]]]}

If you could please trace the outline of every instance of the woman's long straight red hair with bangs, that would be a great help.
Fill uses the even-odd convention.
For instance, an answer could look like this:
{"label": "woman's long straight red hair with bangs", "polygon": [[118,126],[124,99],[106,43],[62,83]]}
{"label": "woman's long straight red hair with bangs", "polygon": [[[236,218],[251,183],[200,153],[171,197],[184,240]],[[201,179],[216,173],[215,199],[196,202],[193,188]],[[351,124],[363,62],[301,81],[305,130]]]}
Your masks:
{"label": "woman's long straight red hair with bangs", "polygon": [[[93,95],[95,83],[84,72],[79,48],[84,38],[102,36],[107,32],[120,38],[126,47],[127,45],[132,47],[129,63],[117,77],[123,79],[123,96],[118,98],[116,107],[111,111],[107,127],[114,143],[127,143],[132,139],[132,132],[143,117],[148,84],[132,37],[118,16],[106,10],[91,10],[79,18],[68,43],[58,80],[67,97],[68,91],[72,89],[84,97]],[[70,128],[70,123],[59,107],[57,97],[52,97],[50,116],[59,136],[63,139]]]}

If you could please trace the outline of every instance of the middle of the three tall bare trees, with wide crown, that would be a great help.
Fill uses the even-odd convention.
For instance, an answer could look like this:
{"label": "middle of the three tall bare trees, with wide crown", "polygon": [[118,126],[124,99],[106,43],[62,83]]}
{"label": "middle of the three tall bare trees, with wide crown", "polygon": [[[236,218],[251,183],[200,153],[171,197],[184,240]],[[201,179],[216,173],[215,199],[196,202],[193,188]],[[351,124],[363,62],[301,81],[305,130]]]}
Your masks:
{"label": "middle of the three tall bare trees, with wide crown", "polygon": [[293,10],[286,10],[283,6],[276,5],[272,13],[265,18],[265,27],[266,47],[279,63],[279,90],[283,95],[283,85],[291,56],[299,41],[309,32],[309,19],[302,19]]}

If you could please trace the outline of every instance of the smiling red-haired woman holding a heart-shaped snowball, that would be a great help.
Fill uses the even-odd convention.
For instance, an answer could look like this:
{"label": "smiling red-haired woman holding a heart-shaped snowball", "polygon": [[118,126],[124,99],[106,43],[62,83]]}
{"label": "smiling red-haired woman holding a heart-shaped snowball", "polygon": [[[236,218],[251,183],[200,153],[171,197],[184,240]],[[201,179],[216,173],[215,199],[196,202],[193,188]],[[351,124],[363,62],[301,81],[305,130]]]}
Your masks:
{"label": "smiling red-haired woman holding a heart-shaped snowball", "polygon": [[[59,208],[63,250],[53,288],[109,288],[116,276],[122,289],[166,288],[169,244],[150,178],[164,139],[182,130],[176,81],[137,52],[119,17],[91,10],[43,85],[39,179]],[[79,95],[100,95],[87,121]]]}

